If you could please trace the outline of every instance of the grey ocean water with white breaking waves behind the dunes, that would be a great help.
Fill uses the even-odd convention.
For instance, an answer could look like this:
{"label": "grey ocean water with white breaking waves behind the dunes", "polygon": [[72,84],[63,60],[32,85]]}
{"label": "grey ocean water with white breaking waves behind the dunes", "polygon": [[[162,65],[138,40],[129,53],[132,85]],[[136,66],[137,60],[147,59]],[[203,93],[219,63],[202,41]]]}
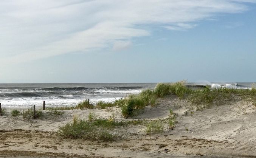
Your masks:
{"label": "grey ocean water with white breaking waves behind the dunes", "polygon": [[[188,87],[205,85],[233,88],[251,88],[252,83],[188,83]],[[128,94],[138,94],[156,83],[92,83],[92,84],[0,84],[0,102],[3,107],[72,106],[84,99],[90,102],[111,102]],[[230,87],[230,86],[229,86]]]}

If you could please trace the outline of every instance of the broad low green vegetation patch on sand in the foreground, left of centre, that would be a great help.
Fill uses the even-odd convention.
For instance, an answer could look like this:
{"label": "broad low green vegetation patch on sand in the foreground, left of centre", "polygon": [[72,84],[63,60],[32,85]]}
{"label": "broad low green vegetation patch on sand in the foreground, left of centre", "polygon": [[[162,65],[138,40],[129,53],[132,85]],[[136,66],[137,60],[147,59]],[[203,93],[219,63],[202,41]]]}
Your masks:
{"label": "broad low green vegetation patch on sand in the foreground, left of centre", "polygon": [[148,124],[144,119],[118,122],[114,118],[115,114],[113,113],[109,119],[98,117],[92,120],[79,119],[78,116],[74,115],[73,121],[59,127],[57,133],[65,138],[112,141],[120,138],[120,136],[110,133],[110,130],[115,127]]}

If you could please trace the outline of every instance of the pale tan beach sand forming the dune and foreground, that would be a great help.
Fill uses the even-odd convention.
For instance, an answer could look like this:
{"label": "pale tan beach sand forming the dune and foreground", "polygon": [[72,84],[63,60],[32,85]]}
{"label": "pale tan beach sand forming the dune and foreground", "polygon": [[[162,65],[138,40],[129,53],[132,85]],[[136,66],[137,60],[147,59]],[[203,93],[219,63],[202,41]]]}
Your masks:
{"label": "pale tan beach sand forming the dune and foreground", "polygon": [[[163,133],[149,136],[143,125],[119,127],[113,132],[124,137],[112,142],[64,139],[56,134],[73,115],[87,119],[90,110],[64,110],[57,119],[31,121],[0,116],[0,157],[256,157],[256,115],[250,100],[236,98],[188,116],[183,113],[190,104],[175,96],[158,99],[157,105],[147,106],[133,119],[167,118],[172,108],[178,114],[174,130],[166,125]],[[132,120],[124,119],[119,108],[93,111],[104,118],[114,112],[116,120]]]}

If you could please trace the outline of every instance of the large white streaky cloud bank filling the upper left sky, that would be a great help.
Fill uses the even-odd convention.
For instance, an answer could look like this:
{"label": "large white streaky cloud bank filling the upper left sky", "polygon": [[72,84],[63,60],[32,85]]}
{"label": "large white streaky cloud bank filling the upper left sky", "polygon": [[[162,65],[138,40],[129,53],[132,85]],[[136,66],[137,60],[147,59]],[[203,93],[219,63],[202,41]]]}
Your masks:
{"label": "large white streaky cloud bank filling the upper left sky", "polygon": [[[174,30],[247,10],[255,0],[0,1],[0,62],[16,63],[93,49],[120,50],[152,25]],[[123,42],[123,43],[122,43]]]}

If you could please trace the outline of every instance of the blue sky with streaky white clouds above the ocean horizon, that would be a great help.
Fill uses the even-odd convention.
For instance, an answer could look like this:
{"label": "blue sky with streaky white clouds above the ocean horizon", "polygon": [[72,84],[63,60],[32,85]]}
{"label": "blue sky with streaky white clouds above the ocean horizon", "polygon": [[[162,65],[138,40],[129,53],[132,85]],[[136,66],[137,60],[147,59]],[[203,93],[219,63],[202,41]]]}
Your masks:
{"label": "blue sky with streaky white clouds above the ocean horizon", "polygon": [[1,0],[0,83],[256,82],[256,0]]}

